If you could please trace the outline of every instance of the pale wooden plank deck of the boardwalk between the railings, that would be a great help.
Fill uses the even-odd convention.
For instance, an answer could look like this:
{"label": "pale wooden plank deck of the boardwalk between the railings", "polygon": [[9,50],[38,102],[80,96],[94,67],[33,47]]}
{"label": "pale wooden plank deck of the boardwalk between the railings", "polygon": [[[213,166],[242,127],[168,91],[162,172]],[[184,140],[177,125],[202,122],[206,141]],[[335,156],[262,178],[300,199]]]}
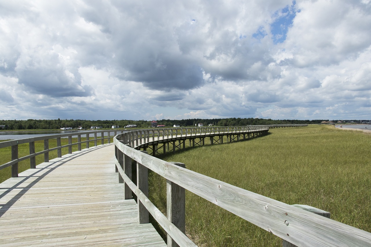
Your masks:
{"label": "pale wooden plank deck of the boardwalk between the railings", "polygon": [[166,246],[123,200],[113,144],[84,149],[0,184],[0,246]]}

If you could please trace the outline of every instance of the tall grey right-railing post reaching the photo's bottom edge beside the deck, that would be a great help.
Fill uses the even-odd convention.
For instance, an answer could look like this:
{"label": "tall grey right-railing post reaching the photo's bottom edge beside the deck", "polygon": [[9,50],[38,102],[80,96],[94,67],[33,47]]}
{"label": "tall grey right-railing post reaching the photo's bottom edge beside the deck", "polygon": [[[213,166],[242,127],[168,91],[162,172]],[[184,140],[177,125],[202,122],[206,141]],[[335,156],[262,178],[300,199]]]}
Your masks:
{"label": "tall grey right-railing post reaching the photo's bottom edge beside the deck", "polygon": [[[185,168],[185,164],[171,162],[174,165]],[[167,218],[179,230],[185,233],[185,189],[179,185],[167,180]],[[167,235],[167,246],[179,246],[175,241]]]}

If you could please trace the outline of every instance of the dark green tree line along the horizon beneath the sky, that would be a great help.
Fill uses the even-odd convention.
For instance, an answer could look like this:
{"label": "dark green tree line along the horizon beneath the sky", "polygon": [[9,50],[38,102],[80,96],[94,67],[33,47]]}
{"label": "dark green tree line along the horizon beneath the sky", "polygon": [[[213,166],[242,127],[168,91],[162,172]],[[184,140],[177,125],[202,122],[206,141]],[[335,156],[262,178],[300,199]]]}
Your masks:
{"label": "dark green tree line along the horizon beneath the sky", "polygon": [[[202,123],[203,126],[246,126],[246,125],[270,125],[270,124],[311,124],[321,123],[321,120],[273,120],[263,118],[217,118],[217,119],[182,119],[182,120],[158,120],[158,125],[166,127],[179,126],[195,126]],[[127,125],[137,125],[138,128],[148,128],[151,126],[151,121],[145,120],[73,120],[73,119],[27,119],[27,120],[0,120],[0,125],[4,125],[4,129],[60,129],[60,128],[79,128],[89,129],[92,126],[102,128],[111,128],[112,125],[118,125],[119,128],[124,128]]]}

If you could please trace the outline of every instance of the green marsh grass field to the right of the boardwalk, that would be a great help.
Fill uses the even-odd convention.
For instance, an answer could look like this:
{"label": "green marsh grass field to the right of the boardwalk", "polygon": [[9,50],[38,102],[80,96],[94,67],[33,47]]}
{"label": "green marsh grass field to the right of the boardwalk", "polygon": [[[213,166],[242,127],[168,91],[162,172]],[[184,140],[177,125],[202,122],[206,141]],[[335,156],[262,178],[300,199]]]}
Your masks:
{"label": "green marsh grass field to the right of the boardwalk", "polygon": [[[371,135],[324,125],[269,133],[162,158],[287,204],[321,208],[371,232]],[[165,181],[151,174],[150,184],[151,200],[165,211]],[[188,191],[186,229],[199,246],[282,246],[280,238]]]}

